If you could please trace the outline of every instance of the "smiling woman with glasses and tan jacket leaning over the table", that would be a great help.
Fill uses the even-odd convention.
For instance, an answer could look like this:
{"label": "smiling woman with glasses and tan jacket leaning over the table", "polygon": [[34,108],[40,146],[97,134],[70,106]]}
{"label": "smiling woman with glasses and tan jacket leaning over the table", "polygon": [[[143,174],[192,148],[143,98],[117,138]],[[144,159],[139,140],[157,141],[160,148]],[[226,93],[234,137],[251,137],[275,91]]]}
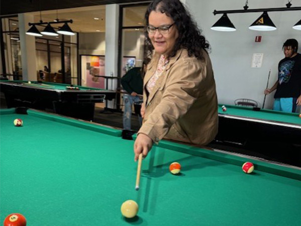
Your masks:
{"label": "smiling woman with glasses and tan jacket leaning over the table", "polygon": [[207,145],[218,130],[217,95],[206,42],[180,0],[155,0],[147,8],[143,124],[134,160],[163,138]]}

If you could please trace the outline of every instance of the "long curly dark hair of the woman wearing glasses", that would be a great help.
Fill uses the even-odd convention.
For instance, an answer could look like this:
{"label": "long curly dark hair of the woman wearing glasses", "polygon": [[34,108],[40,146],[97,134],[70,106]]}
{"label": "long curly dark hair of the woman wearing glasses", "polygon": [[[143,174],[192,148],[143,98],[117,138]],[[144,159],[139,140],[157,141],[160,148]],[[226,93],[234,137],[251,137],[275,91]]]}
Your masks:
{"label": "long curly dark hair of the woman wearing glasses", "polygon": [[[197,23],[192,19],[180,0],[155,0],[150,3],[144,16],[146,27],[149,25],[149,14],[153,11],[165,13],[168,17],[171,17],[178,29],[179,37],[169,57],[175,56],[180,49],[186,49],[189,56],[194,55],[198,59],[204,59],[202,49],[209,50],[209,43],[201,35]],[[152,56],[154,47],[146,30],[145,37],[145,57],[147,58]]]}

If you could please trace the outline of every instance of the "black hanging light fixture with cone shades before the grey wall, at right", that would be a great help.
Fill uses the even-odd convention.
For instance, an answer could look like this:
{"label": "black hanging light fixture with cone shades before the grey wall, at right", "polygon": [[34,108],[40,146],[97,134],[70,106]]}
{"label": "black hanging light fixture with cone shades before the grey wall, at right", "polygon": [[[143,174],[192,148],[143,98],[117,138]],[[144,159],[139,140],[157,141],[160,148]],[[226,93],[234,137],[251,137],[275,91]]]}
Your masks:
{"label": "black hanging light fixture with cone shades before the grey wall, at right", "polygon": [[[279,11],[301,11],[301,7],[291,7],[291,0],[288,0],[288,3],[286,4],[286,7],[283,8],[267,8],[267,9],[252,9],[252,10],[248,10],[248,0],[246,1],[245,6],[243,7],[243,10],[225,10],[225,11],[214,11],[213,14],[236,14],[236,13],[258,13],[258,12],[262,12],[263,14],[249,27],[249,29],[251,30],[257,30],[257,31],[273,31],[276,30],[276,26],[273,24],[273,22],[271,21],[271,19],[268,17],[267,12],[279,12]],[[231,23],[231,21],[229,20],[230,24],[233,27],[226,27],[226,29],[214,29],[214,27],[217,27],[216,25],[218,23],[220,23],[220,21],[223,19],[223,17],[216,22],[211,29],[212,30],[216,30],[216,31],[229,31],[228,29],[235,29],[234,25]],[[226,16],[227,17],[227,16]],[[223,20],[226,20],[225,18]],[[299,21],[298,23],[296,23],[293,26],[293,29],[296,30],[301,30],[301,21]],[[229,25],[228,25],[229,26]],[[223,27],[224,28],[224,27]]]}

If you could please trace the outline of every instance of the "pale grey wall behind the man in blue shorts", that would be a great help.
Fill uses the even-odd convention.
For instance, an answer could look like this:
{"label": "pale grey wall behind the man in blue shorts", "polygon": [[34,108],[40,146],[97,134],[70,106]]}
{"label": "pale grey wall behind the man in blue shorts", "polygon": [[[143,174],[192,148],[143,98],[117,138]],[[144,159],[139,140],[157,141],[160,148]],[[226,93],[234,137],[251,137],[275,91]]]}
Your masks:
{"label": "pale grey wall behind the man in blue shorts", "polygon": [[[298,40],[299,46],[301,45],[301,32],[292,29],[300,20],[300,11],[269,12],[268,15],[277,27],[276,31],[261,32],[248,29],[261,13],[229,14],[228,17],[237,29],[235,32],[210,29],[222,16],[214,16],[214,10],[239,10],[243,9],[244,4],[245,2],[237,0],[186,0],[186,6],[211,45],[210,57],[219,103],[233,104],[237,98],[250,98],[262,106],[269,70],[269,87],[277,80],[277,65],[284,58],[283,43],[286,39],[294,38]],[[268,0],[252,1],[248,6],[249,9],[280,8],[285,7],[285,4],[287,1],[284,0]],[[294,1],[292,4],[293,7],[300,7],[301,1]],[[262,36],[260,43],[255,43],[256,36]],[[251,68],[254,53],[264,54],[260,68]],[[264,108],[272,108],[273,95],[274,93],[267,95]]]}

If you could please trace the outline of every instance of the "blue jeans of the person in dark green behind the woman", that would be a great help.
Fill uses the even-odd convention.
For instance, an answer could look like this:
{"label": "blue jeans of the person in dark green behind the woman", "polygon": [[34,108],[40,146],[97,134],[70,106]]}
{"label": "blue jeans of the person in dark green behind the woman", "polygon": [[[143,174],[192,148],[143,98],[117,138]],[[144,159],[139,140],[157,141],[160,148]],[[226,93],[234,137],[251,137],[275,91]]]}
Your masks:
{"label": "blue jeans of the person in dark green behind the woman", "polygon": [[[130,120],[131,120],[131,113],[132,113],[132,105],[133,104],[141,104],[143,102],[139,96],[131,96],[128,94],[123,95],[123,103],[124,103],[124,112],[123,112],[123,129],[130,130]],[[139,125],[142,125],[142,118],[138,114],[138,121]]]}

